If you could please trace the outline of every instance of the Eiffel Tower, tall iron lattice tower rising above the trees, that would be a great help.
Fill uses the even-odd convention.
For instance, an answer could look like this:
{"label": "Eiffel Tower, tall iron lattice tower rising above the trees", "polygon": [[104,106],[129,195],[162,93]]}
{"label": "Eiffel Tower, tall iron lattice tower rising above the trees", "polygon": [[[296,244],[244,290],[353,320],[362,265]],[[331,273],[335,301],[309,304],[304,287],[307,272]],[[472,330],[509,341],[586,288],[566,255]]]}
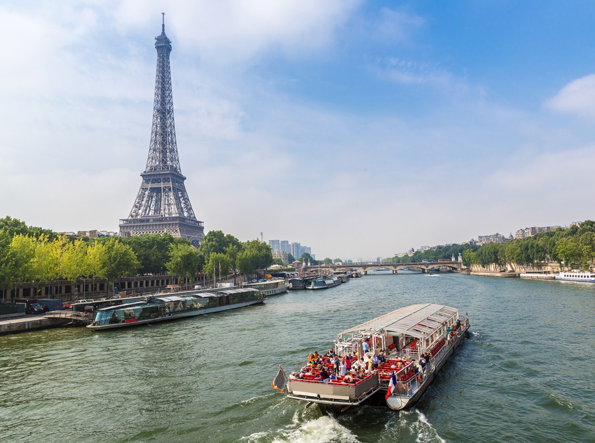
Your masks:
{"label": "Eiffel Tower, tall iron lattice tower rising above the trees", "polygon": [[151,144],[139,194],[127,219],[120,220],[120,236],[170,233],[201,244],[204,227],[196,220],[180,171],[174,102],[171,94],[171,40],[165,35],[162,14],[161,35],[155,37],[157,70]]}

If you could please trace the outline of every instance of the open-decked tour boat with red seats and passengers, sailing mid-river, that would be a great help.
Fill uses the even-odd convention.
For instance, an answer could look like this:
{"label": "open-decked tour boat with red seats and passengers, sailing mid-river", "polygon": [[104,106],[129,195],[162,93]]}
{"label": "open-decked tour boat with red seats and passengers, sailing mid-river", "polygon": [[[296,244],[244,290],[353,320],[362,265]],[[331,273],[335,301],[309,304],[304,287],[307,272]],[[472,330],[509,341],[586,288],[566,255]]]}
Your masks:
{"label": "open-decked tour boat with red seats and passengers, sailing mid-river", "polygon": [[[453,332],[450,340],[448,329]],[[343,412],[383,392],[390,408],[411,407],[434,381],[468,329],[468,317],[459,318],[459,311],[448,306],[427,303],[397,309],[339,333],[334,342],[334,349],[341,357],[355,352],[364,355],[364,342],[369,343],[370,351],[365,354],[365,360],[386,350],[387,360],[377,370],[372,369],[364,378],[355,379],[348,373],[324,382],[320,370],[305,363],[287,379],[287,397],[308,405],[316,403],[323,411]],[[430,361],[421,369],[417,362],[427,354],[431,355]],[[330,357],[322,357],[322,364],[332,371]]]}

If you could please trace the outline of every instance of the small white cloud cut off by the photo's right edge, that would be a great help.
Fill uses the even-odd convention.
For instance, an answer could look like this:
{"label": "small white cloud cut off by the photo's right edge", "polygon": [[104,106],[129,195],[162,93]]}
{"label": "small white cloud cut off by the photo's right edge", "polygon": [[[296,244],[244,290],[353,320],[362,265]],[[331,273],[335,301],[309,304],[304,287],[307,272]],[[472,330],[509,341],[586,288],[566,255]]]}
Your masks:
{"label": "small white cloud cut off by the photo's right edge", "polygon": [[595,74],[568,83],[545,105],[553,111],[595,117]]}

